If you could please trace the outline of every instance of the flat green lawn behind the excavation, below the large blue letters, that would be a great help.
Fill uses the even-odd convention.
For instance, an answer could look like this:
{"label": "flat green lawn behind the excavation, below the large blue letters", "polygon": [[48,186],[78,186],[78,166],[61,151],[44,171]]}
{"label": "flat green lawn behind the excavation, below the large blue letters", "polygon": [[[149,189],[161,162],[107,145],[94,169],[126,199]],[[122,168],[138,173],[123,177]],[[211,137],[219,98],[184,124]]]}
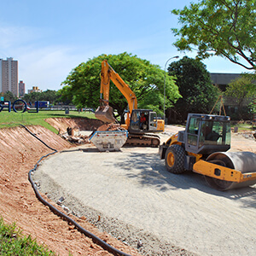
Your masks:
{"label": "flat green lawn behind the excavation, below the large blue letters", "polygon": [[42,125],[50,131],[57,133],[51,125],[44,121],[49,118],[89,118],[95,119],[94,113],[69,111],[68,114],[64,110],[52,111],[52,110],[39,110],[38,113],[15,113],[14,111],[2,111],[0,112],[0,128],[15,127],[18,125]]}

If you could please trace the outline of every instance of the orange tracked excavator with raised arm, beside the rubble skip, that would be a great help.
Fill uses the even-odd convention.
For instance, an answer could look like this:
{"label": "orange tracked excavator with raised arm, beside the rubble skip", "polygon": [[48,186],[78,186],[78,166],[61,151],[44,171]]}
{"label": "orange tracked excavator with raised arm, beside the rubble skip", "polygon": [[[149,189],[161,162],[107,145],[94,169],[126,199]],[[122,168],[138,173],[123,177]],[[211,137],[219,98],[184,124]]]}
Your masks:
{"label": "orange tracked excavator with raised arm, beside the rubble skip", "polygon": [[100,119],[104,123],[114,123],[117,121],[113,117],[113,108],[109,106],[109,87],[111,80],[125,96],[129,106],[125,124],[121,125],[121,127],[128,131],[126,144],[158,147],[160,145],[160,137],[152,134],[152,132],[164,131],[164,120],[157,119],[157,114],[152,109],[137,109],[136,95],[106,60],[102,61],[101,77],[100,107],[96,109],[96,119]]}

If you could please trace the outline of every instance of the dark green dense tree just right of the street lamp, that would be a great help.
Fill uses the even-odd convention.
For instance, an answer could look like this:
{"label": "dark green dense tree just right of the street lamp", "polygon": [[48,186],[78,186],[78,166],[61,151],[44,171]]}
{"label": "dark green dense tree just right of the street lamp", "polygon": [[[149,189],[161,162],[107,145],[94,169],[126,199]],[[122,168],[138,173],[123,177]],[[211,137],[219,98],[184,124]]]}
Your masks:
{"label": "dark green dense tree just right of the street lamp", "polygon": [[168,72],[177,77],[182,96],[175,105],[178,119],[184,121],[188,113],[209,113],[218,97],[218,88],[211,81],[206,66],[199,60],[183,57],[173,61]]}

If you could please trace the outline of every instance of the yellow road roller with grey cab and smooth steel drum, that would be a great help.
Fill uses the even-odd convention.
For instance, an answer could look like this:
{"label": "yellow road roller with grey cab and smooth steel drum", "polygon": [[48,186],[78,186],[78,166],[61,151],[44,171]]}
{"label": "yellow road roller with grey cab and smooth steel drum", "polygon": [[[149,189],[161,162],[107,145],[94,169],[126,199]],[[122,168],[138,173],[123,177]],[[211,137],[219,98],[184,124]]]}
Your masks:
{"label": "yellow road roller with grey cab and smooth steel drum", "polygon": [[189,113],[185,131],[160,145],[168,172],[200,173],[214,189],[227,190],[256,183],[256,154],[230,149],[230,117]]}

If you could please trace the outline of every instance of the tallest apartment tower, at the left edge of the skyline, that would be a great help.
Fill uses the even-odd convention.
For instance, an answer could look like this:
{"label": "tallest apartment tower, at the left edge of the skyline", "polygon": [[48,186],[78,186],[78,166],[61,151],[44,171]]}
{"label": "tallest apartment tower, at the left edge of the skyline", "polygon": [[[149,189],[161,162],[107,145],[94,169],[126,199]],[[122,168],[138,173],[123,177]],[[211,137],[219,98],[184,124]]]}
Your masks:
{"label": "tallest apartment tower, at the left edge of the skyline", "polygon": [[13,58],[0,59],[0,92],[7,91],[19,96],[18,61],[14,61]]}

